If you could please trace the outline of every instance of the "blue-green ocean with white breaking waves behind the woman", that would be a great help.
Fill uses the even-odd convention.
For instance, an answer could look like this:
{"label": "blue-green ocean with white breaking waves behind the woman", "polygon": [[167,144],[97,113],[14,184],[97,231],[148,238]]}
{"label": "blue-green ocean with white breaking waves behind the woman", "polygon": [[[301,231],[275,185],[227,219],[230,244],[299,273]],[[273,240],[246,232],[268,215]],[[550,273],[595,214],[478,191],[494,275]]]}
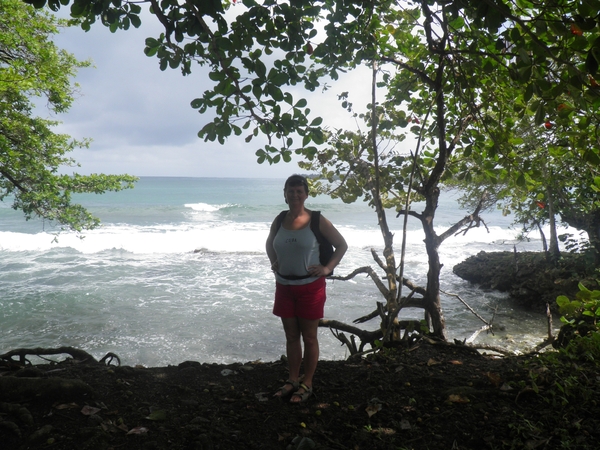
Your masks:
{"label": "blue-green ocean with white breaking waves behind the woman", "polygon": [[[165,366],[200,362],[273,361],[285,353],[283,330],[272,315],[274,278],[264,251],[269,226],[286,209],[279,179],[143,177],[135,189],[75,200],[102,220],[83,238],[43,220],[25,221],[0,202],[0,352],[23,347],[73,346],[123,364]],[[337,275],[371,265],[383,240],[376,215],[362,201],[309,198],[346,238],[349,250]],[[415,206],[419,211],[419,205]],[[456,194],[443,193],[438,232],[464,217]],[[546,333],[544,315],[520,310],[505,294],[461,280],[452,267],[479,251],[541,250],[539,236],[517,240],[512,218],[484,215],[485,228],[456,236],[440,248],[441,286],[458,294],[503,330],[475,342],[522,351]],[[399,257],[402,218],[392,212]],[[409,218],[405,276],[423,285],[423,232]],[[55,240],[56,237],[56,240]],[[347,323],[382,301],[361,275],[329,281],[325,315]],[[450,339],[463,340],[483,323],[455,297],[442,297]],[[405,310],[400,319],[422,318]],[[377,320],[363,324],[375,329]],[[322,359],[348,356],[327,329],[319,334]]]}

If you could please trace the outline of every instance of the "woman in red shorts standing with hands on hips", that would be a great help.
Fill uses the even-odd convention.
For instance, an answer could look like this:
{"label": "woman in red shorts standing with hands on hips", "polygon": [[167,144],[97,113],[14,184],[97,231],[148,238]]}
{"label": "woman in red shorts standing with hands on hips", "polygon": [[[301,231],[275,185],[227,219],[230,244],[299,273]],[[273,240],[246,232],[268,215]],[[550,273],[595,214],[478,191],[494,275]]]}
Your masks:
{"label": "woman in red shorts standing with hands on hips", "polygon": [[[273,314],[281,317],[286,339],[289,379],[275,393],[291,396],[300,403],[312,395],[313,376],[319,361],[317,329],[325,306],[325,277],[333,272],[348,249],[339,231],[325,217],[319,220],[319,231],[335,251],[329,261],[319,262],[319,242],[310,227],[312,211],[304,207],[308,183],[300,175],[289,177],[283,187],[289,211],[283,220],[275,219],[267,238],[267,255],[275,272],[275,304]],[[304,378],[300,383],[304,343]]]}

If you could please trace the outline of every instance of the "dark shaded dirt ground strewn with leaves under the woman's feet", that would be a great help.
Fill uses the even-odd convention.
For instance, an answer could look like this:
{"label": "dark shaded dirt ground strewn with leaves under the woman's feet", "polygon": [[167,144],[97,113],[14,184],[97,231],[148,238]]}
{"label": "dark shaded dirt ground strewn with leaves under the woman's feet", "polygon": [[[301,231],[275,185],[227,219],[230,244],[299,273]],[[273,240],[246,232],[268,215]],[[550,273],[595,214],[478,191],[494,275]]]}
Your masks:
{"label": "dark shaded dirt ground strewn with leaves under the woman's feet", "polygon": [[[597,374],[579,370],[597,398]],[[7,450],[600,448],[595,400],[556,402],[556,379],[535,358],[425,340],[321,361],[316,395],[300,405],[272,397],[284,361],[134,368],[67,359],[2,374],[87,386],[63,382],[20,399],[0,392]]]}

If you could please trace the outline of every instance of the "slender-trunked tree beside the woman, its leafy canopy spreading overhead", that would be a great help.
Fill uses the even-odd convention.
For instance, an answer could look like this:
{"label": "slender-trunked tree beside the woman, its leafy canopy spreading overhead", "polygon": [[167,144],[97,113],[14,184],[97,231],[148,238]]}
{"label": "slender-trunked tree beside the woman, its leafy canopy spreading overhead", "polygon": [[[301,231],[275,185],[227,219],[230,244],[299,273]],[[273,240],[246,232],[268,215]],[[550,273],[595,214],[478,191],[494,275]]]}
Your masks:
{"label": "slender-trunked tree beside the woman, its leafy canopy spreading overhead", "polygon": [[[58,0],[48,3],[53,9],[61,6]],[[423,226],[429,272],[421,303],[434,334],[444,337],[438,248],[445,238],[480,223],[480,218],[476,209],[437,235],[434,220],[443,183],[454,176],[468,180],[473,170],[497,177],[505,160],[516,166],[518,136],[505,121],[514,123],[534,111],[540,125],[546,111],[565,95],[581,105],[586,126],[598,123],[587,73],[573,62],[585,61],[592,75],[598,69],[594,54],[600,40],[597,44],[592,35],[600,36],[600,30],[589,20],[597,13],[588,4],[593,2],[578,10],[560,1],[540,6],[500,0],[148,3],[164,33],[147,39],[146,54],[157,56],[161,69],[179,67],[184,75],[191,72],[193,62],[210,68],[213,87],[192,101],[201,113],[216,112],[200,137],[223,143],[232,134],[245,133],[248,142],[265,135],[267,145],[256,152],[259,162],[288,161],[295,152],[321,165],[325,170],[321,173],[331,180],[348,174],[342,177],[347,200],[366,194],[372,201],[385,241],[385,261],[378,264],[388,282],[387,291],[382,291],[388,302],[382,314],[386,334],[401,299],[393,294],[400,289],[390,251],[393,240],[382,214],[385,204],[401,212],[407,208],[406,214]],[[41,6],[45,0],[35,4]],[[84,29],[100,18],[112,31],[139,26],[140,11],[130,1],[73,0],[71,7]],[[573,24],[589,28],[590,38],[573,41],[578,37]],[[573,60],[573,53],[582,56]],[[314,91],[324,80],[335,81],[340,72],[364,64],[387,67],[379,83],[388,93],[383,104],[373,99],[365,116],[367,133],[328,130],[321,118],[313,118],[306,100],[294,97],[300,86]],[[378,138],[402,139],[403,128],[418,136],[419,148],[411,155],[389,153],[381,165]],[[598,156],[596,147],[583,153],[590,161]],[[335,170],[326,169],[328,165]],[[517,184],[541,177],[536,167],[504,169],[502,174],[516,177]],[[407,197],[412,192],[424,199],[423,212],[409,209]],[[402,280],[401,275],[398,278]]]}

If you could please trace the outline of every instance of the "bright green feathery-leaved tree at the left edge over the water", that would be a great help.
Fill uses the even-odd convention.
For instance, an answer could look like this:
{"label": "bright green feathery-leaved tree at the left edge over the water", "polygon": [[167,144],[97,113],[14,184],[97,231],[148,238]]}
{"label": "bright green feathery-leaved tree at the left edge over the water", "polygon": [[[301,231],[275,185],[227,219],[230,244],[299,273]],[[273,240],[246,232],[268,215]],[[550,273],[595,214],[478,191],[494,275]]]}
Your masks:
{"label": "bright green feathery-leaved tree at the left edge over the water", "polygon": [[73,102],[71,78],[89,64],[57,49],[51,36],[66,22],[25,5],[6,0],[0,6],[0,200],[12,201],[27,219],[39,216],[73,230],[99,224],[73,193],[118,191],[133,186],[128,175],[60,175],[76,165],[65,155],[87,142],[56,134],[57,122],[34,117],[33,98],[61,113]]}

